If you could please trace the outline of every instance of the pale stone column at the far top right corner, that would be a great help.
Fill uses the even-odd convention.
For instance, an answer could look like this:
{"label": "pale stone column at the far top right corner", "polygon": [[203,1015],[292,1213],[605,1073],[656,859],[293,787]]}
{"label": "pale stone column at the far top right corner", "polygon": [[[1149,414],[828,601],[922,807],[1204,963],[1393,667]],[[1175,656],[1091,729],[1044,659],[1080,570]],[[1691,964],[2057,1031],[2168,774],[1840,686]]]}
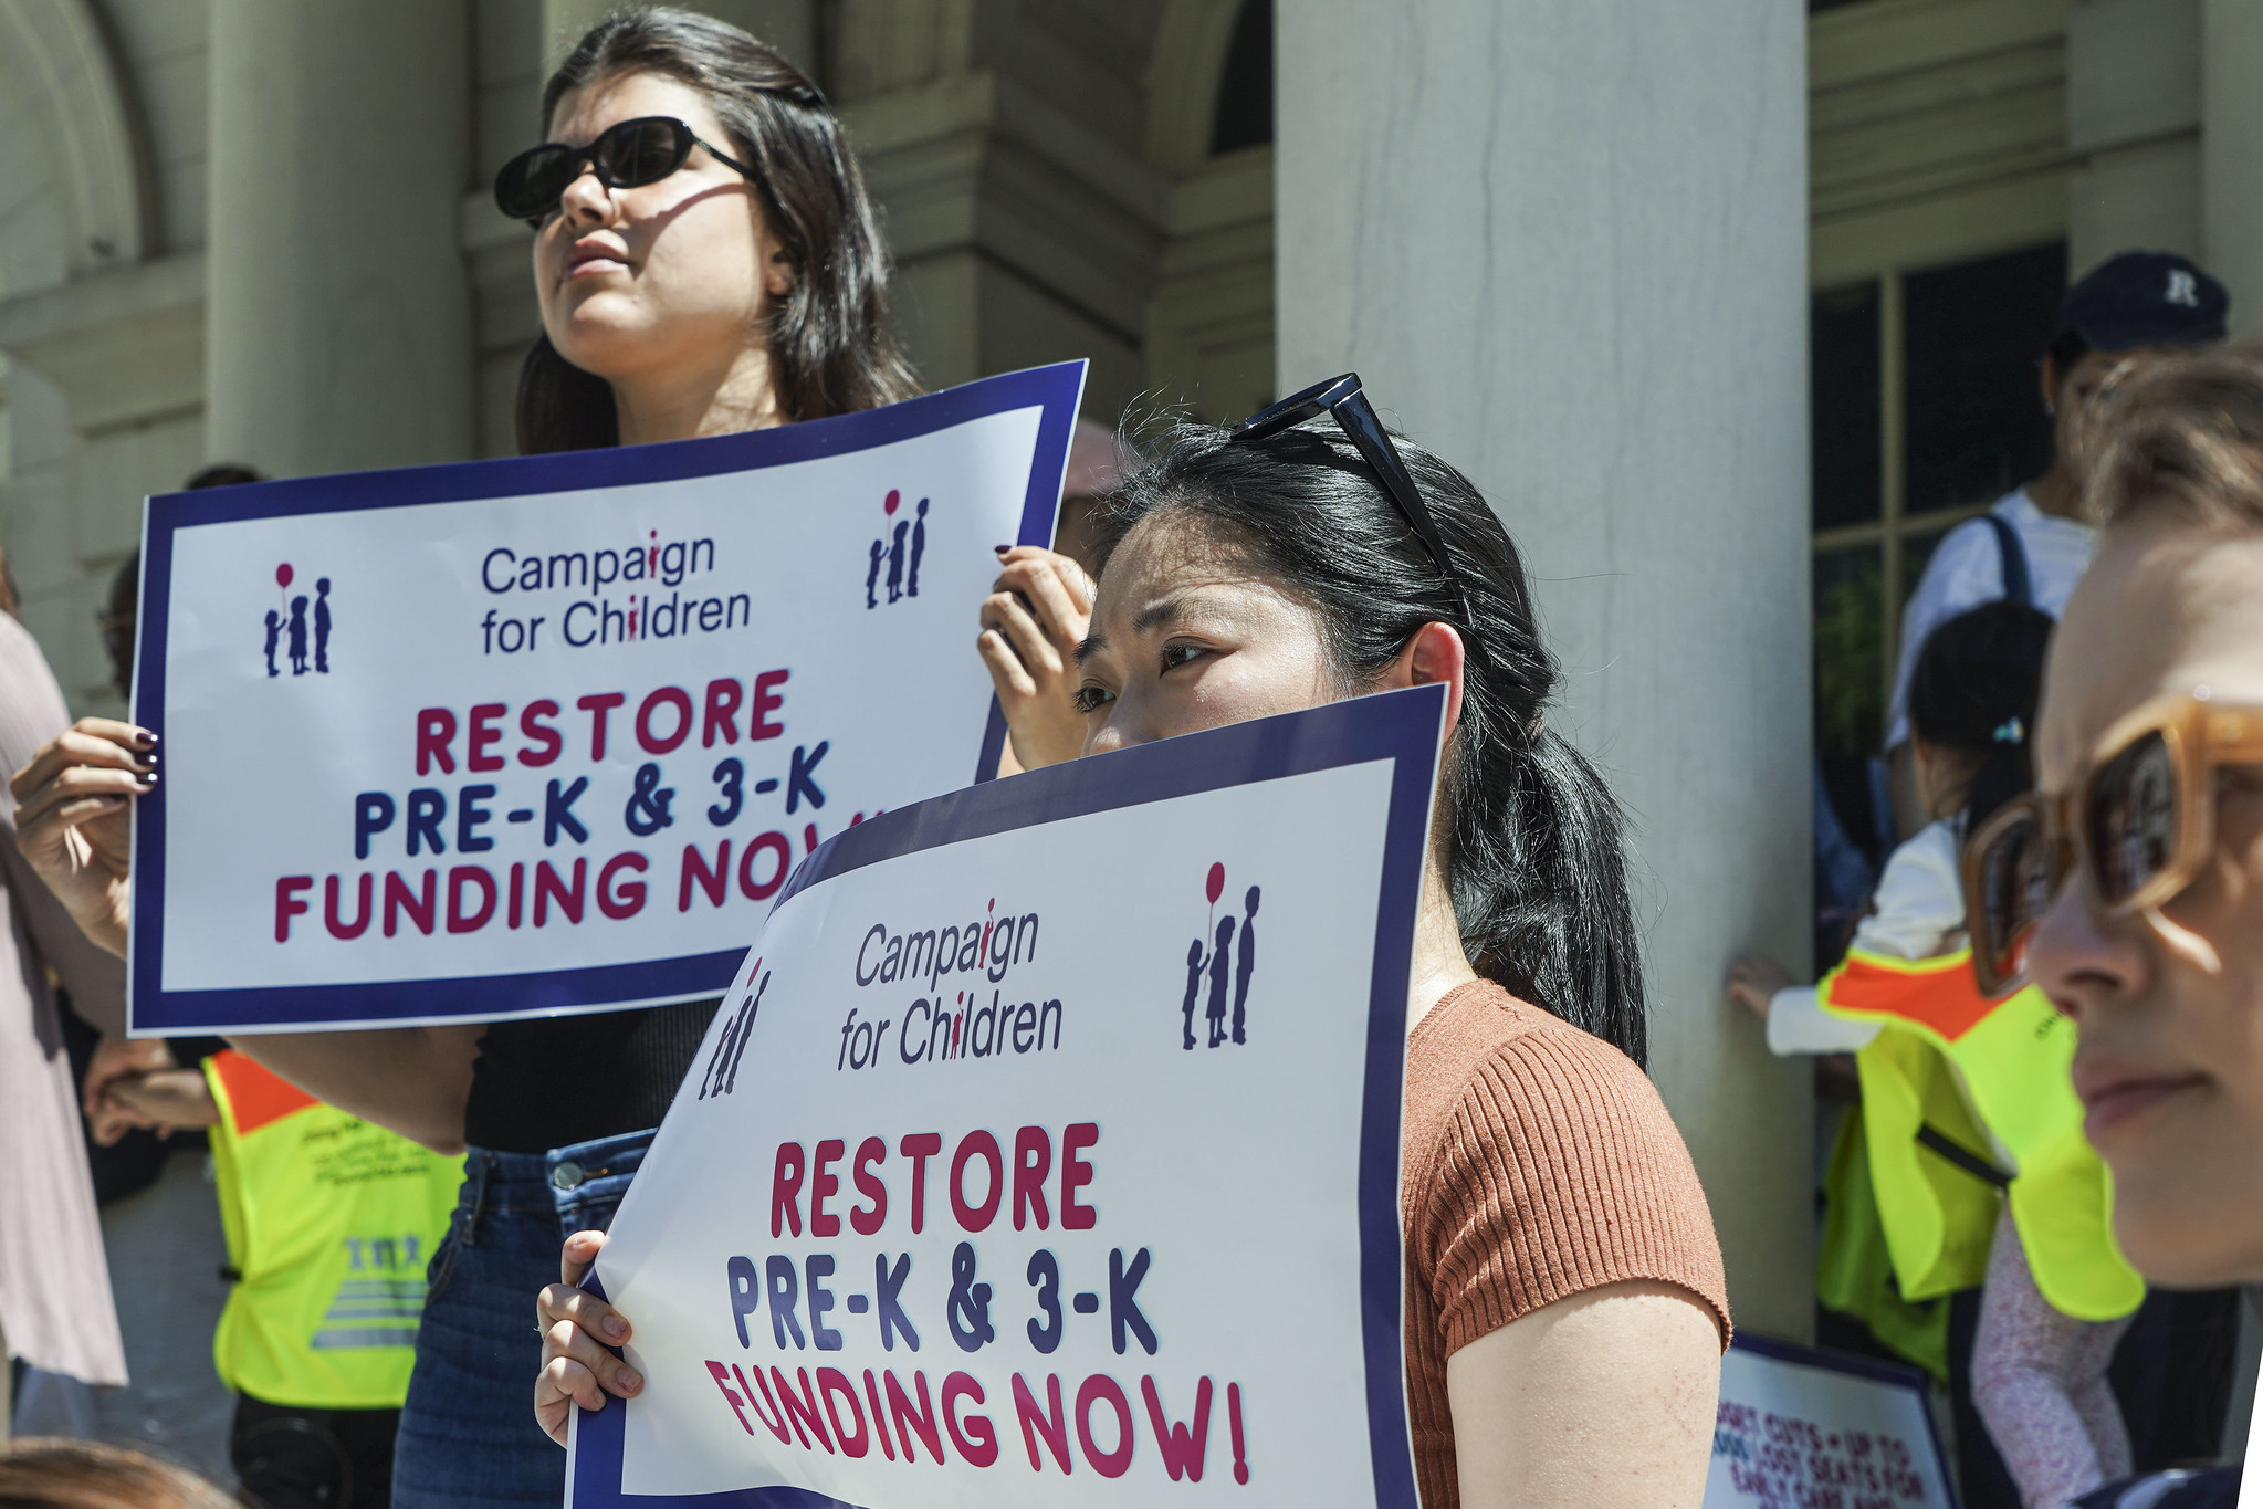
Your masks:
{"label": "pale stone column at the far top right corner", "polygon": [[2231,290],[2231,333],[2263,330],[2263,5],[2200,7],[2200,265]]}

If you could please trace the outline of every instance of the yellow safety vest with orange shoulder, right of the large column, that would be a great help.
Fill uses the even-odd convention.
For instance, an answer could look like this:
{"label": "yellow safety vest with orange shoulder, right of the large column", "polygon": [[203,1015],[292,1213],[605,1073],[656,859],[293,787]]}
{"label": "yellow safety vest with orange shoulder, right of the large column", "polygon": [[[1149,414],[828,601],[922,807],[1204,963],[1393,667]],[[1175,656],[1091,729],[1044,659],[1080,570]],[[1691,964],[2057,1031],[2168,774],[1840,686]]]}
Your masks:
{"label": "yellow safety vest with orange shoulder, right of the large column", "polygon": [[[1835,1016],[1885,1029],[1856,1054],[1872,1185],[1903,1299],[1987,1276],[1998,1197],[2019,1226],[2034,1287],[2062,1314],[2111,1321],[2145,1281],[2114,1242],[2114,1185],[2082,1136],[2068,1077],[2073,1027],[2028,986],[1989,1000],[1971,950],[1896,959],[1862,948],[1817,989]],[[1994,1170],[1989,1133],[2014,1161]]]}

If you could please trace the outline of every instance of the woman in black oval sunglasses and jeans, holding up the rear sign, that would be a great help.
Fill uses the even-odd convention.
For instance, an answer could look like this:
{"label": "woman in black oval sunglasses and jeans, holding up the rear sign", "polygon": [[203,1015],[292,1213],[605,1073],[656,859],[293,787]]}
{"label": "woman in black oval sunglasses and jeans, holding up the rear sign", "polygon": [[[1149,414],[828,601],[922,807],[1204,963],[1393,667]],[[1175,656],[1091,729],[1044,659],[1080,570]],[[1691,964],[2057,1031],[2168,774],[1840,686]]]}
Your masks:
{"label": "woman in black oval sunglasses and jeans, holding up the rear sign", "polygon": [[[543,314],[520,450],[726,434],[917,391],[840,120],[776,52],[690,11],[613,16],[552,75],[543,124],[550,140],[496,176],[498,208],[534,226]],[[145,781],[147,740],[95,722],[16,781],[27,851],[113,950],[124,799]],[[566,1231],[611,1219],[713,1004],[242,1038],[346,1111],[468,1142],[401,1414],[398,1509],[559,1502],[563,1457],[514,1403],[539,1346],[527,1294]],[[577,1095],[559,1095],[568,1081]]]}

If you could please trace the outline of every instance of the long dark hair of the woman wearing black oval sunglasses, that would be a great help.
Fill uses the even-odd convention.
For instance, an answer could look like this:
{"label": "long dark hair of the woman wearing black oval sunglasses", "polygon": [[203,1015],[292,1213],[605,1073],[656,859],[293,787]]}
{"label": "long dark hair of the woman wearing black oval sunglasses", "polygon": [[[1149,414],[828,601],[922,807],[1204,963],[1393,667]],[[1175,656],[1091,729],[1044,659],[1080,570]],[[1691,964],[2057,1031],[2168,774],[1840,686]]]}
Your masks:
{"label": "long dark hair of the woman wearing black oval sunglasses", "polygon": [[[543,86],[543,129],[570,88],[656,72],[706,95],[756,170],[763,219],[794,265],[769,317],[772,385],[788,419],[824,419],[919,391],[887,324],[887,249],[840,118],[783,57],[733,25],[656,7],[606,16]],[[618,446],[613,389],[543,335],[518,371],[518,450]]]}

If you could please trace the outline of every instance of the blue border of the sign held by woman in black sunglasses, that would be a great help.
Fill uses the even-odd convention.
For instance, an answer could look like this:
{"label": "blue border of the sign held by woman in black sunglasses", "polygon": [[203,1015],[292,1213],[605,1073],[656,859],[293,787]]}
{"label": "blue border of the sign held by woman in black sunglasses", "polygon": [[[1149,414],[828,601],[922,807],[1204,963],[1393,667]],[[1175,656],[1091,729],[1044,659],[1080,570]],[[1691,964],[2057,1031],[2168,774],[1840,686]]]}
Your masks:
{"label": "blue border of the sign held by woman in black sunglasses", "polygon": [[[251,518],[401,509],[430,502],[525,498],[595,486],[681,482],[720,473],[790,466],[831,455],[871,450],[896,441],[950,430],[1012,409],[1043,409],[1036,450],[1021,509],[1023,545],[1048,545],[1061,505],[1059,477],[1068,466],[1068,443],[1084,394],[1084,362],[1032,367],[982,378],[941,394],[907,398],[862,414],[812,419],[799,425],[717,434],[663,446],[611,446],[491,462],[448,462],[362,471],[330,477],[285,477],[195,493],[161,493],[143,509],[140,638],[134,654],[134,717],[165,735],[165,627],[172,604],[172,543],[181,529]],[[163,747],[163,744],[161,744]],[[989,726],[971,781],[998,769],[1005,717],[991,697]],[[158,785],[134,803],[134,937],[129,1020],[134,1032],[208,1032],[217,1027],[317,1025],[317,1023],[432,1023],[480,1016],[561,1016],[625,1004],[661,1004],[717,995],[731,984],[745,950],[681,955],[570,971],[523,975],[475,975],[462,980],[401,980],[376,984],[272,986],[247,991],[165,991],[165,792]],[[509,1011],[496,1011],[507,995]]]}

